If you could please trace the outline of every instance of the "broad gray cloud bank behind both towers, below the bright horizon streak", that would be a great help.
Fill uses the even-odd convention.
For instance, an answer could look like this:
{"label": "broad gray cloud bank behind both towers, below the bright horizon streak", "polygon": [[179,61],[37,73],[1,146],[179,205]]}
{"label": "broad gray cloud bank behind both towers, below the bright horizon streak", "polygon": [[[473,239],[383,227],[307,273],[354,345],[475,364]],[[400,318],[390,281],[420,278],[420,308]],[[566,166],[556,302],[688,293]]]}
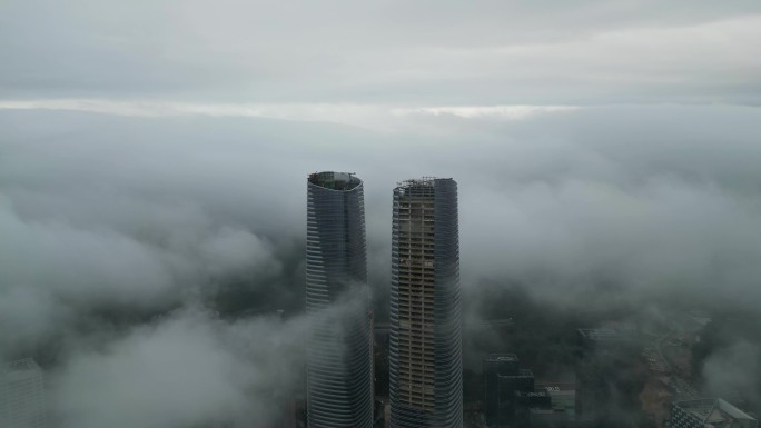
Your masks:
{"label": "broad gray cloud bank behind both towers, below the bright horizon streak", "polygon": [[414,119],[435,135],[73,113],[60,126],[42,115],[49,127],[36,131],[34,115],[6,119],[2,219],[20,242],[3,257],[11,283],[154,300],[199,272],[277,269],[267,237],[300,237],[304,175],[338,169],[366,180],[378,258],[395,182],[438,173],[461,182],[471,278],[610,275],[632,287],[753,292],[761,153],[752,108]]}

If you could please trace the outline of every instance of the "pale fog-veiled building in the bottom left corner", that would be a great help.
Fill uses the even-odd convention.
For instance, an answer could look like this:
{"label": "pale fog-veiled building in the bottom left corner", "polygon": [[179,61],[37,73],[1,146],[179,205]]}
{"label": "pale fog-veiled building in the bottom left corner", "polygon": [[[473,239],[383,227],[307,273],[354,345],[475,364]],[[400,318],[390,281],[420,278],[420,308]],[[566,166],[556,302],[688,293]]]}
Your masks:
{"label": "pale fog-veiled building in the bottom left corner", "polygon": [[6,366],[0,372],[0,427],[45,428],[46,419],[42,369],[31,358]]}

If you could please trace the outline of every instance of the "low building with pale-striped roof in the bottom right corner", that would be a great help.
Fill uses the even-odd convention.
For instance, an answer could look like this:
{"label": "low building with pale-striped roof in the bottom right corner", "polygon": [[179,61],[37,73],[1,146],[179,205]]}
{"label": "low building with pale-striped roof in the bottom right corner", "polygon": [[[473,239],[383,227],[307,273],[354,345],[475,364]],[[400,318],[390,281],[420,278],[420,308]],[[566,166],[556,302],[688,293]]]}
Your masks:
{"label": "low building with pale-striped roof in the bottom right corner", "polygon": [[758,428],[758,426],[755,418],[721,398],[671,404],[672,428]]}

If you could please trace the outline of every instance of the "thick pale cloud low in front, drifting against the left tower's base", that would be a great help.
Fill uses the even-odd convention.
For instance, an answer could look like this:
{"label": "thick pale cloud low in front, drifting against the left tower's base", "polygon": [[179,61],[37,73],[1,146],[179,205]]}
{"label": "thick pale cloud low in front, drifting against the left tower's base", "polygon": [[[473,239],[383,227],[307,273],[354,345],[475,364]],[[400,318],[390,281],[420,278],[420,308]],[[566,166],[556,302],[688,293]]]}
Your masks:
{"label": "thick pale cloud low in front, drifting against the left tower's base", "polygon": [[51,376],[56,426],[267,425],[295,399],[306,324],[191,308],[85,347]]}

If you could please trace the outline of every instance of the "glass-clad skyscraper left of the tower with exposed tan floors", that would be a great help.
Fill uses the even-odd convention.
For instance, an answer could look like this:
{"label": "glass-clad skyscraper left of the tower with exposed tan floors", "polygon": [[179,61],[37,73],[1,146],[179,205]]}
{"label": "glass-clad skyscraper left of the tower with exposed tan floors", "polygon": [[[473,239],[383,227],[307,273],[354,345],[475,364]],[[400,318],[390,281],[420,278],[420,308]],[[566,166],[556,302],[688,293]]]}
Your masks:
{"label": "glass-clad skyscraper left of the tower with exposed tan floors", "polygon": [[307,183],[309,428],[373,426],[372,312],[362,180],[317,172]]}

